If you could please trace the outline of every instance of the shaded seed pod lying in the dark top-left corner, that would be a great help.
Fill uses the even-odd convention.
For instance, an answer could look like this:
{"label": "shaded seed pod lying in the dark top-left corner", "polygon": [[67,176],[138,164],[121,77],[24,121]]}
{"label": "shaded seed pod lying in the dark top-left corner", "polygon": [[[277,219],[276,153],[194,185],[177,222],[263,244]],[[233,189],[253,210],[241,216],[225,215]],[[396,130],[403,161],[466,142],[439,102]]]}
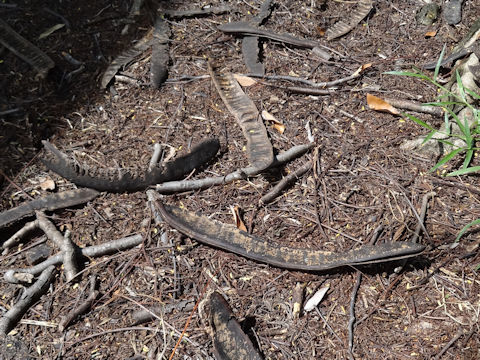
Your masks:
{"label": "shaded seed pod lying in the dark top-left corner", "polygon": [[20,36],[2,19],[0,19],[0,44],[33,67],[38,73],[37,78],[45,78],[55,66],[47,54]]}

